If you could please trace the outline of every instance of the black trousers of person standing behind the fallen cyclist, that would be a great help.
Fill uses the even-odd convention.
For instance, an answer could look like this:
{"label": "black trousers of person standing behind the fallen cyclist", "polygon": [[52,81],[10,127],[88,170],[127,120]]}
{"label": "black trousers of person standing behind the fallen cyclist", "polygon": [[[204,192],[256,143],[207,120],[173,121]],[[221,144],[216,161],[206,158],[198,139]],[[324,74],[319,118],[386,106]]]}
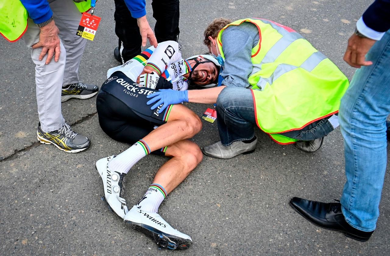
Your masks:
{"label": "black trousers of person standing behind the fallen cyclist", "polygon": [[[179,0],[153,0],[154,34],[157,42],[177,41],[179,38]],[[149,17],[147,15],[147,17]],[[124,0],[115,0],[115,34],[118,36],[119,54],[124,62],[141,52],[142,38],[137,19],[131,17]]]}

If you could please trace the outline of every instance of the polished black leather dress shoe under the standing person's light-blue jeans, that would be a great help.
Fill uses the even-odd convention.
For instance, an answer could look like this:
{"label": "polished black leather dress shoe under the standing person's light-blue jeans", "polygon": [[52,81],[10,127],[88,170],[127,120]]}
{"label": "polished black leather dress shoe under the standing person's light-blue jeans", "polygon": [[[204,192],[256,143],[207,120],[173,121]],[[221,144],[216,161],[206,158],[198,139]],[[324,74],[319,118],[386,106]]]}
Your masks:
{"label": "polished black leather dress shoe under the standing person's light-blue jeans", "polygon": [[347,237],[361,242],[369,240],[374,232],[364,232],[349,225],[342,214],[340,203],[322,203],[294,197],[291,199],[290,205],[299,214],[317,226],[341,231]]}

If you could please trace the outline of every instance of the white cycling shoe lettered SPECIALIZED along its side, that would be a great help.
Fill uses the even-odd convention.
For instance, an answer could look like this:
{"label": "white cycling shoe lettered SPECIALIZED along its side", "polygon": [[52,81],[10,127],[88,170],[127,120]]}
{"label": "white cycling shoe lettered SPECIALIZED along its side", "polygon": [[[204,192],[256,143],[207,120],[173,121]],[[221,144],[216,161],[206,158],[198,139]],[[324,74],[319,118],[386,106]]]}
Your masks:
{"label": "white cycling shoe lettered SPECIALIZED along its side", "polygon": [[111,171],[108,168],[108,162],[115,156],[105,157],[96,161],[96,169],[103,181],[104,196],[102,200],[108,203],[108,208],[115,212],[122,219],[129,209],[126,206],[126,200],[123,198],[125,173]]}

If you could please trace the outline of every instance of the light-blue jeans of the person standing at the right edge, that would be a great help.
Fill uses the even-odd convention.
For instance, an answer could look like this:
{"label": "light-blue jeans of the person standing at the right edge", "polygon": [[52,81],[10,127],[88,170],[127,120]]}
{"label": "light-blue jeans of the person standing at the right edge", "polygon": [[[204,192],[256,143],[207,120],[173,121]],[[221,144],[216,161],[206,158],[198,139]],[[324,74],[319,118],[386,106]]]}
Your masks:
{"label": "light-blue jeans of the person standing at the right edge", "polygon": [[341,100],[347,182],[341,198],[346,221],[372,231],[386,171],[386,117],[390,113],[390,30],[366,55],[372,65],[358,69]]}

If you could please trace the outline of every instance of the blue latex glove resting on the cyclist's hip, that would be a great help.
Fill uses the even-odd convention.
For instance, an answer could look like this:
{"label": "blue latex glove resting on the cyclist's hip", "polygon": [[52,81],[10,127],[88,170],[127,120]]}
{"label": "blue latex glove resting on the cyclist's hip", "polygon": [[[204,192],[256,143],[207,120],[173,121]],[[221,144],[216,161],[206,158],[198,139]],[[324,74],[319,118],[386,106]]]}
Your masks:
{"label": "blue latex glove resting on the cyclist's hip", "polygon": [[172,89],[160,89],[158,92],[154,92],[152,94],[149,94],[146,96],[147,98],[152,98],[150,101],[146,102],[146,104],[151,105],[154,102],[157,102],[154,104],[150,109],[155,109],[161,104],[163,106],[160,109],[163,111],[165,108],[167,108],[170,104],[179,104],[181,102],[188,102],[188,91],[176,91]]}

